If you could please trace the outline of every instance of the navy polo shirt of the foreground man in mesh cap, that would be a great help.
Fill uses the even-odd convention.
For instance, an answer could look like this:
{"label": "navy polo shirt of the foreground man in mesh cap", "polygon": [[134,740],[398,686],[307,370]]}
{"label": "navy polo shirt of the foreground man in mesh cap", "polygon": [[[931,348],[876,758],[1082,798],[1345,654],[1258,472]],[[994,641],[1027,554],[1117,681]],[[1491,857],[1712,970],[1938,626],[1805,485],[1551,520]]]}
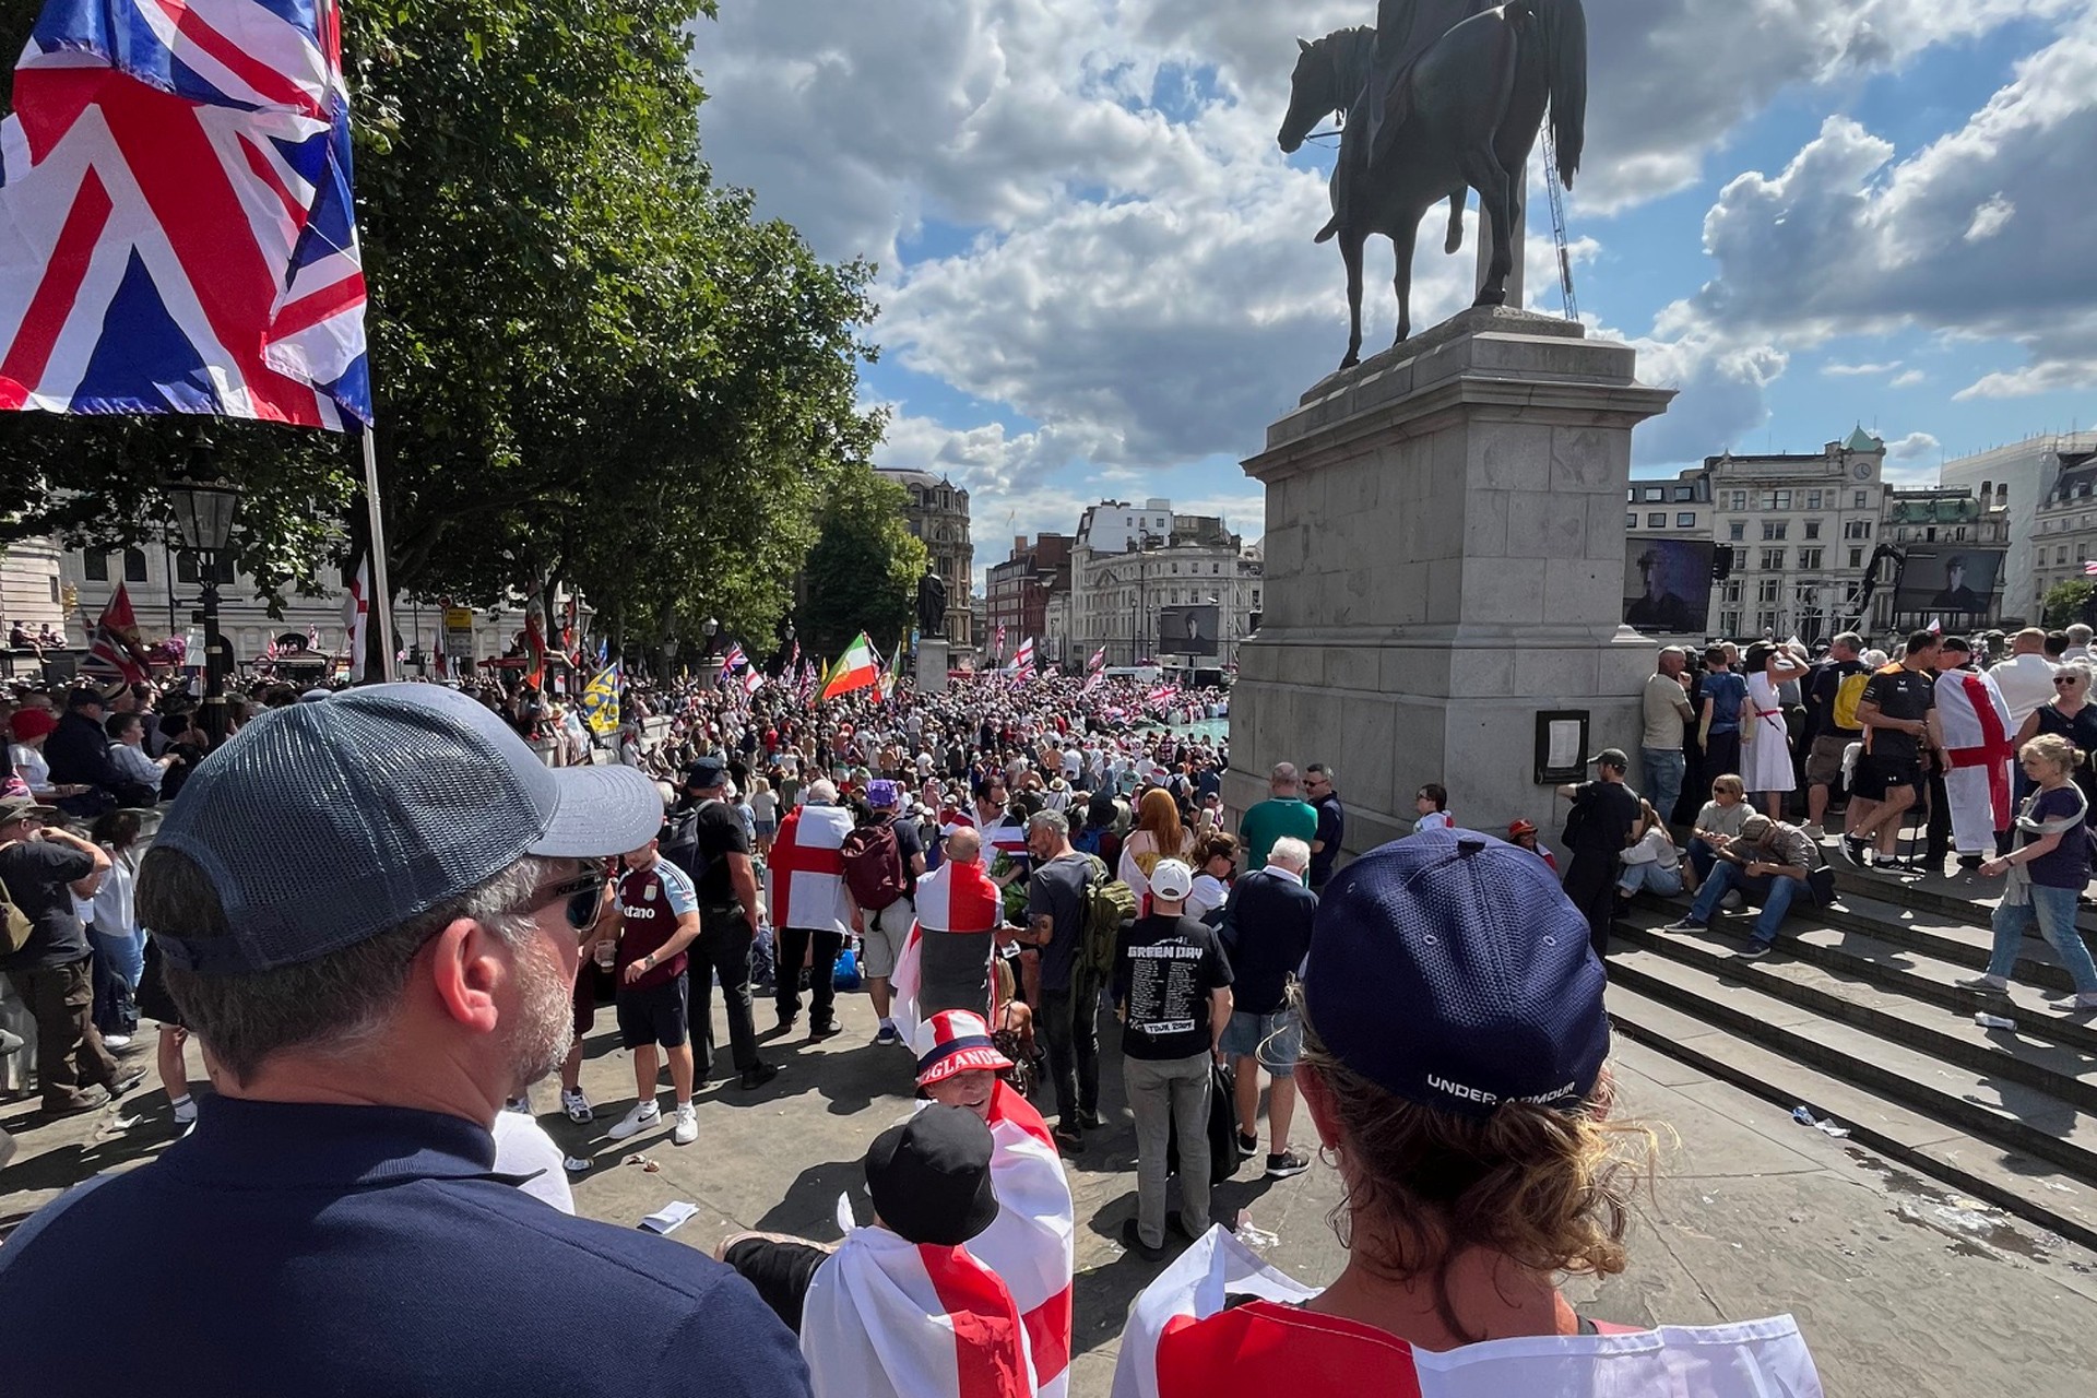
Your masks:
{"label": "navy polo shirt of the foreground man in mesh cap", "polygon": [[[197,1107],[157,1161],[90,1180],[0,1247],[4,1388],[807,1398],[793,1333],[747,1281],[533,1199],[472,1121]],[[122,1316],[88,1299],[111,1276],[138,1297]]]}

